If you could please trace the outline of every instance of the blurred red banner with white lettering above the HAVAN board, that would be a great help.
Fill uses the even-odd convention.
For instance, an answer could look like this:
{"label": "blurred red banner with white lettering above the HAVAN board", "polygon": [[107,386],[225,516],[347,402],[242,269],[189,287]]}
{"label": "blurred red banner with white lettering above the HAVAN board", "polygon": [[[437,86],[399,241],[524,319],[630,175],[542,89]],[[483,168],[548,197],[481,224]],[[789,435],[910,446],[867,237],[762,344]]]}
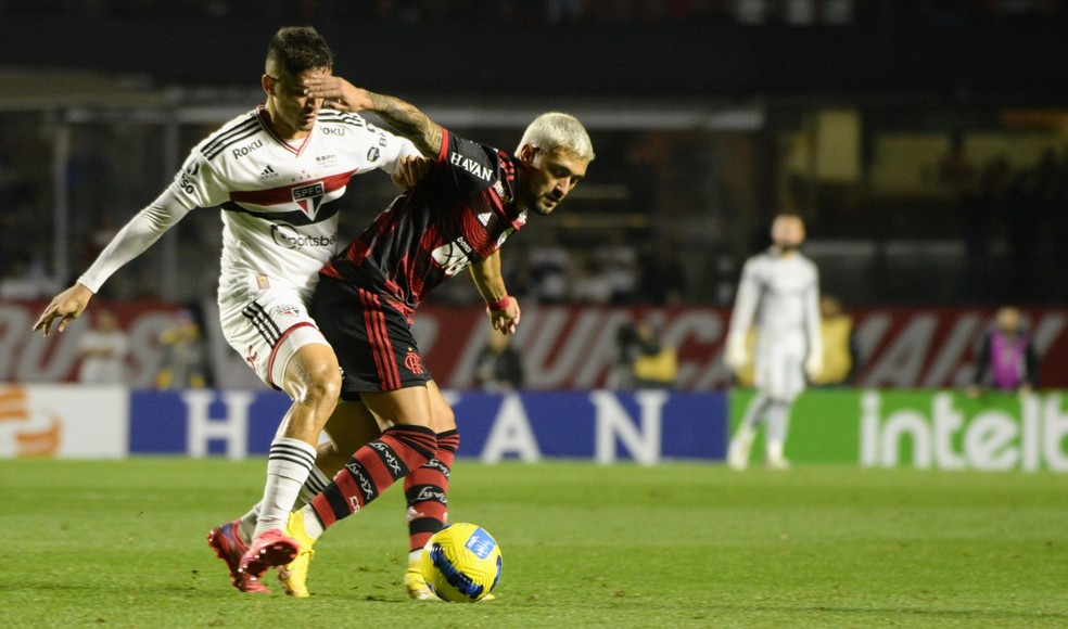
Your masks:
{"label": "blurred red banner with white lettering above the HAVAN board", "polygon": [[[77,337],[85,319],[49,339],[30,329],[44,304],[0,303],[0,382],[73,382]],[[170,304],[109,305],[130,334],[129,385],[150,387],[158,363],[158,337],[176,320]],[[205,337],[217,386],[256,386],[241,357],[223,341],[214,303],[205,304]],[[970,382],[979,339],[993,309],[857,308],[851,311],[862,364],[854,386],[955,388]],[[1068,309],[1025,309],[1041,357],[1040,385],[1068,388]],[[524,306],[513,344],[532,390],[600,388],[616,358],[621,325],[652,322],[678,354],[677,388],[712,390],[730,385],[720,354],[729,311],[720,308],[615,308]],[[444,388],[471,387],[487,319],[482,308],[421,307],[416,337],[425,364]]]}

